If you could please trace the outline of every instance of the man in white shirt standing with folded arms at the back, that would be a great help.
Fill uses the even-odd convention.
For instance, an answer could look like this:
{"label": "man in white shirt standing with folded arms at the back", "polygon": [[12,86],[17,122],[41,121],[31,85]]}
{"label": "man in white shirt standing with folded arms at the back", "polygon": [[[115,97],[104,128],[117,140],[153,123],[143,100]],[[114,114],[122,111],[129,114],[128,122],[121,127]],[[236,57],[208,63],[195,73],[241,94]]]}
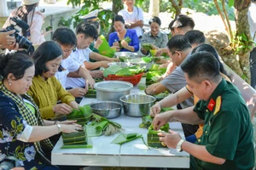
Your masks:
{"label": "man in white shirt standing with folded arms at the back", "polygon": [[137,37],[143,36],[143,9],[134,6],[135,0],[124,0],[124,9],[119,11],[128,29],[136,30]]}

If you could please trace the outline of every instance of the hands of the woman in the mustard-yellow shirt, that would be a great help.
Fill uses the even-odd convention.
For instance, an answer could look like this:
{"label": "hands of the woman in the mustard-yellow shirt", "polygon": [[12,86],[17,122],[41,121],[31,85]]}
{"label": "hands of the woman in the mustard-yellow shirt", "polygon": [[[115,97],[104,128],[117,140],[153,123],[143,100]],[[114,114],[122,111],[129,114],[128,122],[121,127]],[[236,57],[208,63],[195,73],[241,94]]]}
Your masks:
{"label": "hands of the woman in the mustard-yellow shirt", "polygon": [[68,115],[73,109],[79,109],[79,104],[75,101],[71,101],[69,105],[67,104],[57,104],[53,106],[53,111],[56,115]]}

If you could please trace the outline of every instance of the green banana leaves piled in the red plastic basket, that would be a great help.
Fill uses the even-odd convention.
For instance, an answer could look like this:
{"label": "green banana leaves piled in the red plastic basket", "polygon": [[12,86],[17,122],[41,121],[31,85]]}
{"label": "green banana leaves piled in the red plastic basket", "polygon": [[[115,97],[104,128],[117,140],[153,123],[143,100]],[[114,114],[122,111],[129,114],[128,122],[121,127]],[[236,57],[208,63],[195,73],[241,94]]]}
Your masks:
{"label": "green banana leaves piled in the red plastic basket", "polygon": [[115,75],[129,77],[142,73],[143,71],[145,71],[145,67],[141,67],[140,65],[133,65],[125,68],[122,68],[119,65],[111,65],[103,71],[103,76],[108,77],[108,75]]}

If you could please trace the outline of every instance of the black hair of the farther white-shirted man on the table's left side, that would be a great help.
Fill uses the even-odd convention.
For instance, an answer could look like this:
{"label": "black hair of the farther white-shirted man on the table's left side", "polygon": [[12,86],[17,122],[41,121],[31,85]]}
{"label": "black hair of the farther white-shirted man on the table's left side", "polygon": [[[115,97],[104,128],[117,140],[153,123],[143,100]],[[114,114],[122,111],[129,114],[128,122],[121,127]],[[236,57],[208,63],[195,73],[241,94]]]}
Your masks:
{"label": "black hair of the farther white-shirted man on the table's left side", "polygon": [[98,32],[95,26],[88,24],[84,20],[76,27],[76,34],[84,34],[84,37],[92,37],[94,40],[98,37]]}

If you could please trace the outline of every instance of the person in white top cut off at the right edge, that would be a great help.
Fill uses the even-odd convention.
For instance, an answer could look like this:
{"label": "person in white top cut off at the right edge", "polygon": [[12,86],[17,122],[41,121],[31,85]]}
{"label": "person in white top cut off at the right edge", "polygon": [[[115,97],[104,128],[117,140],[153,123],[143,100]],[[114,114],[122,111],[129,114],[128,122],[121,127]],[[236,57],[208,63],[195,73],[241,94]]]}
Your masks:
{"label": "person in white top cut off at the right edge", "polygon": [[[251,37],[256,42],[256,0],[252,0],[252,3],[248,9],[248,22],[250,26]],[[251,86],[256,88],[256,48],[250,54],[250,70],[251,70]]]}

